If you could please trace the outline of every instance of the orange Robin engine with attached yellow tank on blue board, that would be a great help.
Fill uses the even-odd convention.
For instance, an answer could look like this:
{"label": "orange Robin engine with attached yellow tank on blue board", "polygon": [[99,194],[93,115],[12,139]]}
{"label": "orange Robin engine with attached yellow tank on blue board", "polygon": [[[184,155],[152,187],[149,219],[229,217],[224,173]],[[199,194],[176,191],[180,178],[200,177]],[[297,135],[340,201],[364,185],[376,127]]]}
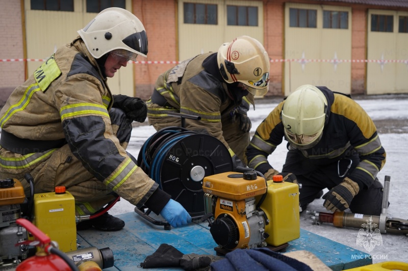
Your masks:
{"label": "orange Robin engine with attached yellow tank on blue board", "polygon": [[300,236],[299,187],[282,175],[265,181],[256,171],[204,178],[205,212],[219,251],[279,247]]}

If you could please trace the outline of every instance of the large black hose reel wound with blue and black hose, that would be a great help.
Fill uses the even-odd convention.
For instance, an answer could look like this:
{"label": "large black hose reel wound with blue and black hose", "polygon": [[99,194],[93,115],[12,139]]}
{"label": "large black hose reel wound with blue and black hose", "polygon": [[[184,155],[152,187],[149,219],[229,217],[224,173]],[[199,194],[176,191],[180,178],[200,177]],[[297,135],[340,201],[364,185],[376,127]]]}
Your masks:
{"label": "large black hose reel wound with blue and black hose", "polygon": [[233,170],[231,155],[221,141],[182,127],[167,127],[150,136],[137,161],[192,218],[205,214],[203,178]]}

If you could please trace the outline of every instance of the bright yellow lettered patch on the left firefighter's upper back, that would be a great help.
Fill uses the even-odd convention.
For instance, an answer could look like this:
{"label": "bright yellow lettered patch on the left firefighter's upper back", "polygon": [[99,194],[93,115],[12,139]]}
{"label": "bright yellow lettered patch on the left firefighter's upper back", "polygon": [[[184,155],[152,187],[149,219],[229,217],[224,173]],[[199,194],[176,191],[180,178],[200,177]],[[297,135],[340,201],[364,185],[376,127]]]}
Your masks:
{"label": "bright yellow lettered patch on the left firefighter's upper back", "polygon": [[41,90],[45,92],[48,86],[61,75],[61,70],[57,62],[55,62],[54,54],[38,67],[33,75]]}

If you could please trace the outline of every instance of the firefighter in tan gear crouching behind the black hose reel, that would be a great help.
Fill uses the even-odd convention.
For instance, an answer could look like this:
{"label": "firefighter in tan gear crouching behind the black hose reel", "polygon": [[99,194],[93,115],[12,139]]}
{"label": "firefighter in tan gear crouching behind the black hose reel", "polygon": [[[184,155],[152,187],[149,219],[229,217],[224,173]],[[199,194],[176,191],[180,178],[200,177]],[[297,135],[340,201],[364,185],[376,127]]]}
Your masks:
{"label": "firefighter in tan gear crouching behind the black hose reel", "polygon": [[247,111],[254,95],[268,91],[269,65],[264,46],[248,36],[189,58],[157,79],[146,102],[149,124],[156,130],[180,127],[181,118],[168,113],[200,117],[186,119],[185,128],[218,138],[235,166],[245,166],[251,129]]}

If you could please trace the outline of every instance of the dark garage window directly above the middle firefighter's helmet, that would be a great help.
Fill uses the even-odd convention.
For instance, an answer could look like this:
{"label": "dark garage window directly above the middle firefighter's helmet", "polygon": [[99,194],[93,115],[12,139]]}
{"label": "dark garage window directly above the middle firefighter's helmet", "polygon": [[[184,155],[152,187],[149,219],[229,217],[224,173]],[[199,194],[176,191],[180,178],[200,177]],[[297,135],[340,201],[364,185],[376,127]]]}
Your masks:
{"label": "dark garage window directly above the middle firefighter's helmet", "polygon": [[258,26],[258,7],[227,6],[228,25]]}

